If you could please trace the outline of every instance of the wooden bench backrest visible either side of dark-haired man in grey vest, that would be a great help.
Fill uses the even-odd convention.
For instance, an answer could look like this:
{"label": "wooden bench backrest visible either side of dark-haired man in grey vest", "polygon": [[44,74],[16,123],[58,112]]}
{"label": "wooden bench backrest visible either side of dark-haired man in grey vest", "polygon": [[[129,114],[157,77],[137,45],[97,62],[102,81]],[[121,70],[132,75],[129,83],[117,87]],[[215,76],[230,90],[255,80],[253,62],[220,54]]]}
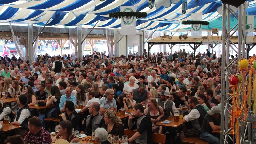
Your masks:
{"label": "wooden bench backrest visible either side of dark-haired man in grey vest", "polygon": [[[131,131],[124,129],[124,135],[127,135],[128,138],[131,138],[137,131]],[[164,134],[158,134],[158,133],[152,133],[152,143],[162,143],[164,144],[166,140],[166,135]]]}

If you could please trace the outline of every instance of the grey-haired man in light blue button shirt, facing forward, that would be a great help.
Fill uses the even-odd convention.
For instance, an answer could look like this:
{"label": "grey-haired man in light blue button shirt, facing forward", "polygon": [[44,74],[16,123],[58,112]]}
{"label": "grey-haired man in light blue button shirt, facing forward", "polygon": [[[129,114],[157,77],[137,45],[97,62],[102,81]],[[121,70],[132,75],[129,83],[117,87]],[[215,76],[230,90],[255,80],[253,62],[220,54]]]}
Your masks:
{"label": "grey-haired man in light blue button shirt, facing forward", "polygon": [[61,98],[60,98],[60,104],[59,104],[60,112],[63,112],[63,111],[64,111],[63,105],[64,105],[64,103],[65,103],[67,100],[72,101],[72,102],[74,103],[74,106],[76,107],[76,97],[71,94],[71,93],[72,93],[72,89],[71,89],[70,86],[66,88],[66,92],[65,92],[65,93],[66,93],[66,94],[63,95],[63,96],[61,96]]}

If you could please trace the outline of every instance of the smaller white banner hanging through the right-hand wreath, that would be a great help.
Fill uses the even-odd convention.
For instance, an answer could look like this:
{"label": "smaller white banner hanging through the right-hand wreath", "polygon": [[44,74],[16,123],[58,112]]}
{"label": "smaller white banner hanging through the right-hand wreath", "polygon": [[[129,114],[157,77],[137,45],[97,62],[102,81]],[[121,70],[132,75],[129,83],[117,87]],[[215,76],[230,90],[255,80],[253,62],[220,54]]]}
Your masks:
{"label": "smaller white banner hanging through the right-hand wreath", "polygon": [[[203,13],[191,13],[191,20],[202,21]],[[192,24],[191,25],[191,37],[201,38],[202,37],[202,25]]]}

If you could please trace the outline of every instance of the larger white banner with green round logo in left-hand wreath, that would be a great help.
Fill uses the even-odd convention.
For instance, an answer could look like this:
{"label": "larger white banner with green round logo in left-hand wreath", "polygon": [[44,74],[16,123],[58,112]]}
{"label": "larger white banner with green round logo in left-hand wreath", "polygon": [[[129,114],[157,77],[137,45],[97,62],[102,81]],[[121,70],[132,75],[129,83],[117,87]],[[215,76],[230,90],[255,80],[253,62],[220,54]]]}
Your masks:
{"label": "larger white banner with green round logo in left-hand wreath", "polygon": [[[136,12],[137,6],[120,6],[121,12]],[[136,35],[136,18],[121,17],[121,35]]]}

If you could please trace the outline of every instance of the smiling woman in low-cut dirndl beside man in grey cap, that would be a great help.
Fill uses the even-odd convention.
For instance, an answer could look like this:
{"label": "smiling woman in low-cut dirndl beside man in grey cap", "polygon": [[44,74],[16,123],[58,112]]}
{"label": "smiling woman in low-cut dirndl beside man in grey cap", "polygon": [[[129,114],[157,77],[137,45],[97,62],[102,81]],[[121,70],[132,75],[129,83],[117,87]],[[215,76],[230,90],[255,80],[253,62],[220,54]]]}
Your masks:
{"label": "smiling woman in low-cut dirndl beside man in grey cap", "polygon": [[156,102],[155,98],[148,99],[148,108],[144,110],[144,113],[148,115],[152,122],[152,132],[162,134],[162,126],[156,126],[155,124],[160,121],[164,116],[164,110]]}

